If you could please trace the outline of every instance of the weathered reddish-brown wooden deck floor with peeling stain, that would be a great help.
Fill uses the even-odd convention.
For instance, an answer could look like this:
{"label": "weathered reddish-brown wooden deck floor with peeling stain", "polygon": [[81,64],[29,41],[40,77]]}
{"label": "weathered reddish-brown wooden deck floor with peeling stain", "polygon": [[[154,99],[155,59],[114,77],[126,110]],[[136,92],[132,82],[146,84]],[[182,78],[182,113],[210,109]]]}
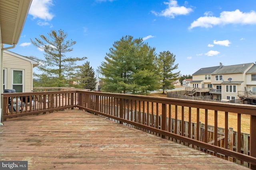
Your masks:
{"label": "weathered reddish-brown wooden deck floor with peeling stain", "polygon": [[4,121],[0,160],[32,170],[248,169],[78,109]]}

